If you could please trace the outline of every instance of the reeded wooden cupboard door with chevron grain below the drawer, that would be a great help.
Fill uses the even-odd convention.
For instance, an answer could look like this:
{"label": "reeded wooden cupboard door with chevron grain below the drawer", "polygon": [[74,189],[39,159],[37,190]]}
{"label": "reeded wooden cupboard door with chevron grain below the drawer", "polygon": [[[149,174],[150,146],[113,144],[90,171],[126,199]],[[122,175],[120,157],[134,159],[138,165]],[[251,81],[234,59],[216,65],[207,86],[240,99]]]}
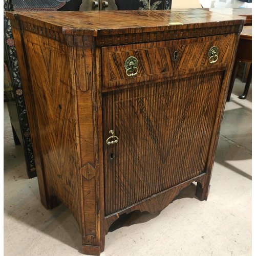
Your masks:
{"label": "reeded wooden cupboard door with chevron grain below the drawer", "polygon": [[205,172],[222,76],[103,94],[105,216]]}

